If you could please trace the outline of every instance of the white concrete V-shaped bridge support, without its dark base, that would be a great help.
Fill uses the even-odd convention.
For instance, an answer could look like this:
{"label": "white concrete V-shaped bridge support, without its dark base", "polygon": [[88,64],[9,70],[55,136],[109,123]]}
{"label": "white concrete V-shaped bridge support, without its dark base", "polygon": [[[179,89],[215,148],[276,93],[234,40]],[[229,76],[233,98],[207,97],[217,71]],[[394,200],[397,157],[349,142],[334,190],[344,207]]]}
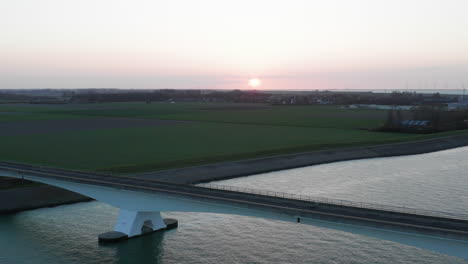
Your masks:
{"label": "white concrete V-shaped bridge support, without its dark base", "polygon": [[128,237],[143,234],[143,228],[153,231],[166,228],[160,212],[136,212],[120,209],[115,231],[122,232]]}

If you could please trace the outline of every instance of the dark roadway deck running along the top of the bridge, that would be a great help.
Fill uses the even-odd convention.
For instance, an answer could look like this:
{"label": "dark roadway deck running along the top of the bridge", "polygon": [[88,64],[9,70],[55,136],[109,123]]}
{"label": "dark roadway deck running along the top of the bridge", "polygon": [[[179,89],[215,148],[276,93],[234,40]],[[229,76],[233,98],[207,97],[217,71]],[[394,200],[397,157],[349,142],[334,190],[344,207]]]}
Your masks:
{"label": "dark roadway deck running along the top of the bridge", "polygon": [[[375,227],[378,229],[396,230],[425,236],[468,241],[468,219],[462,217],[437,216],[430,211],[409,210],[387,211],[374,208],[326,203],[323,201],[292,199],[245,193],[233,190],[220,190],[185,184],[173,184],[148,179],[111,176],[88,172],[46,168],[18,163],[0,162],[0,170],[19,175],[35,175],[60,181],[70,181],[80,184],[104,186],[119,190],[182,197],[204,203],[246,208],[249,210],[278,213],[294,217],[301,222],[304,218],[333,221],[357,226]],[[265,192],[265,194],[268,194]],[[377,208],[377,209],[376,209]],[[403,209],[403,208],[402,208]],[[421,213],[422,212],[422,213]]]}

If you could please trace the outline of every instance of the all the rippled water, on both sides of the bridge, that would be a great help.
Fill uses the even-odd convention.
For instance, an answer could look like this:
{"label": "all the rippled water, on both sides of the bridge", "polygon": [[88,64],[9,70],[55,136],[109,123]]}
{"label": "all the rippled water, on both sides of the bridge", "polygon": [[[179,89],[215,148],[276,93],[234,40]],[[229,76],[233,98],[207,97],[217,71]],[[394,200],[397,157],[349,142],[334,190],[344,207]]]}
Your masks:
{"label": "all the rippled water, on both sides of the bridge", "polygon": [[[338,162],[217,183],[467,213],[467,154]],[[336,230],[204,213],[165,213],[179,220],[177,229],[99,245],[117,213],[90,202],[1,216],[0,263],[468,263]]]}

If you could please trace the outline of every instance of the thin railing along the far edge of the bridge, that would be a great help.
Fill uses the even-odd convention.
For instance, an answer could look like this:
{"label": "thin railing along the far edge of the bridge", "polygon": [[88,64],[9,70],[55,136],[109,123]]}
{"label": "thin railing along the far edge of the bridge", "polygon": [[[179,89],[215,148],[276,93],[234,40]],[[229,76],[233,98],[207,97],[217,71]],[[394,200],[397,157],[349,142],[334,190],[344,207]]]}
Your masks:
{"label": "thin railing along the far edge of the bridge", "polygon": [[406,206],[393,206],[393,205],[384,205],[384,204],[368,203],[368,202],[354,202],[354,201],[341,200],[341,199],[331,199],[331,198],[325,198],[325,197],[316,197],[316,196],[309,196],[309,195],[302,195],[302,194],[252,189],[252,188],[246,188],[246,187],[235,187],[235,186],[219,185],[219,184],[212,184],[212,183],[201,183],[201,184],[197,184],[197,186],[207,188],[207,189],[251,193],[251,194],[258,194],[258,195],[278,197],[278,198],[287,198],[287,199],[292,199],[292,200],[301,200],[301,201],[307,201],[307,202],[468,220],[468,214],[464,214],[464,213],[450,213],[450,212],[435,211],[435,210],[416,209],[416,208],[411,208],[411,207],[406,207]]}

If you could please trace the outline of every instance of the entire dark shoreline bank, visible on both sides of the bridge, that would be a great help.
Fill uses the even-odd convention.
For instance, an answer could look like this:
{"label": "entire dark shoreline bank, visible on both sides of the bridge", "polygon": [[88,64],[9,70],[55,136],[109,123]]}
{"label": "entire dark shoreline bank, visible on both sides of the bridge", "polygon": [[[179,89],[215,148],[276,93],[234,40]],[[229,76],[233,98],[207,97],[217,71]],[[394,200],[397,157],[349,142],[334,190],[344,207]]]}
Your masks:
{"label": "entire dark shoreline bank, visible on both sides of the bridge", "polygon": [[[137,174],[135,177],[179,184],[197,184],[339,161],[416,155],[464,146],[468,146],[468,134],[229,161]],[[0,214],[92,200],[89,197],[48,185],[4,189],[0,190],[0,201],[3,201],[0,204]]]}

